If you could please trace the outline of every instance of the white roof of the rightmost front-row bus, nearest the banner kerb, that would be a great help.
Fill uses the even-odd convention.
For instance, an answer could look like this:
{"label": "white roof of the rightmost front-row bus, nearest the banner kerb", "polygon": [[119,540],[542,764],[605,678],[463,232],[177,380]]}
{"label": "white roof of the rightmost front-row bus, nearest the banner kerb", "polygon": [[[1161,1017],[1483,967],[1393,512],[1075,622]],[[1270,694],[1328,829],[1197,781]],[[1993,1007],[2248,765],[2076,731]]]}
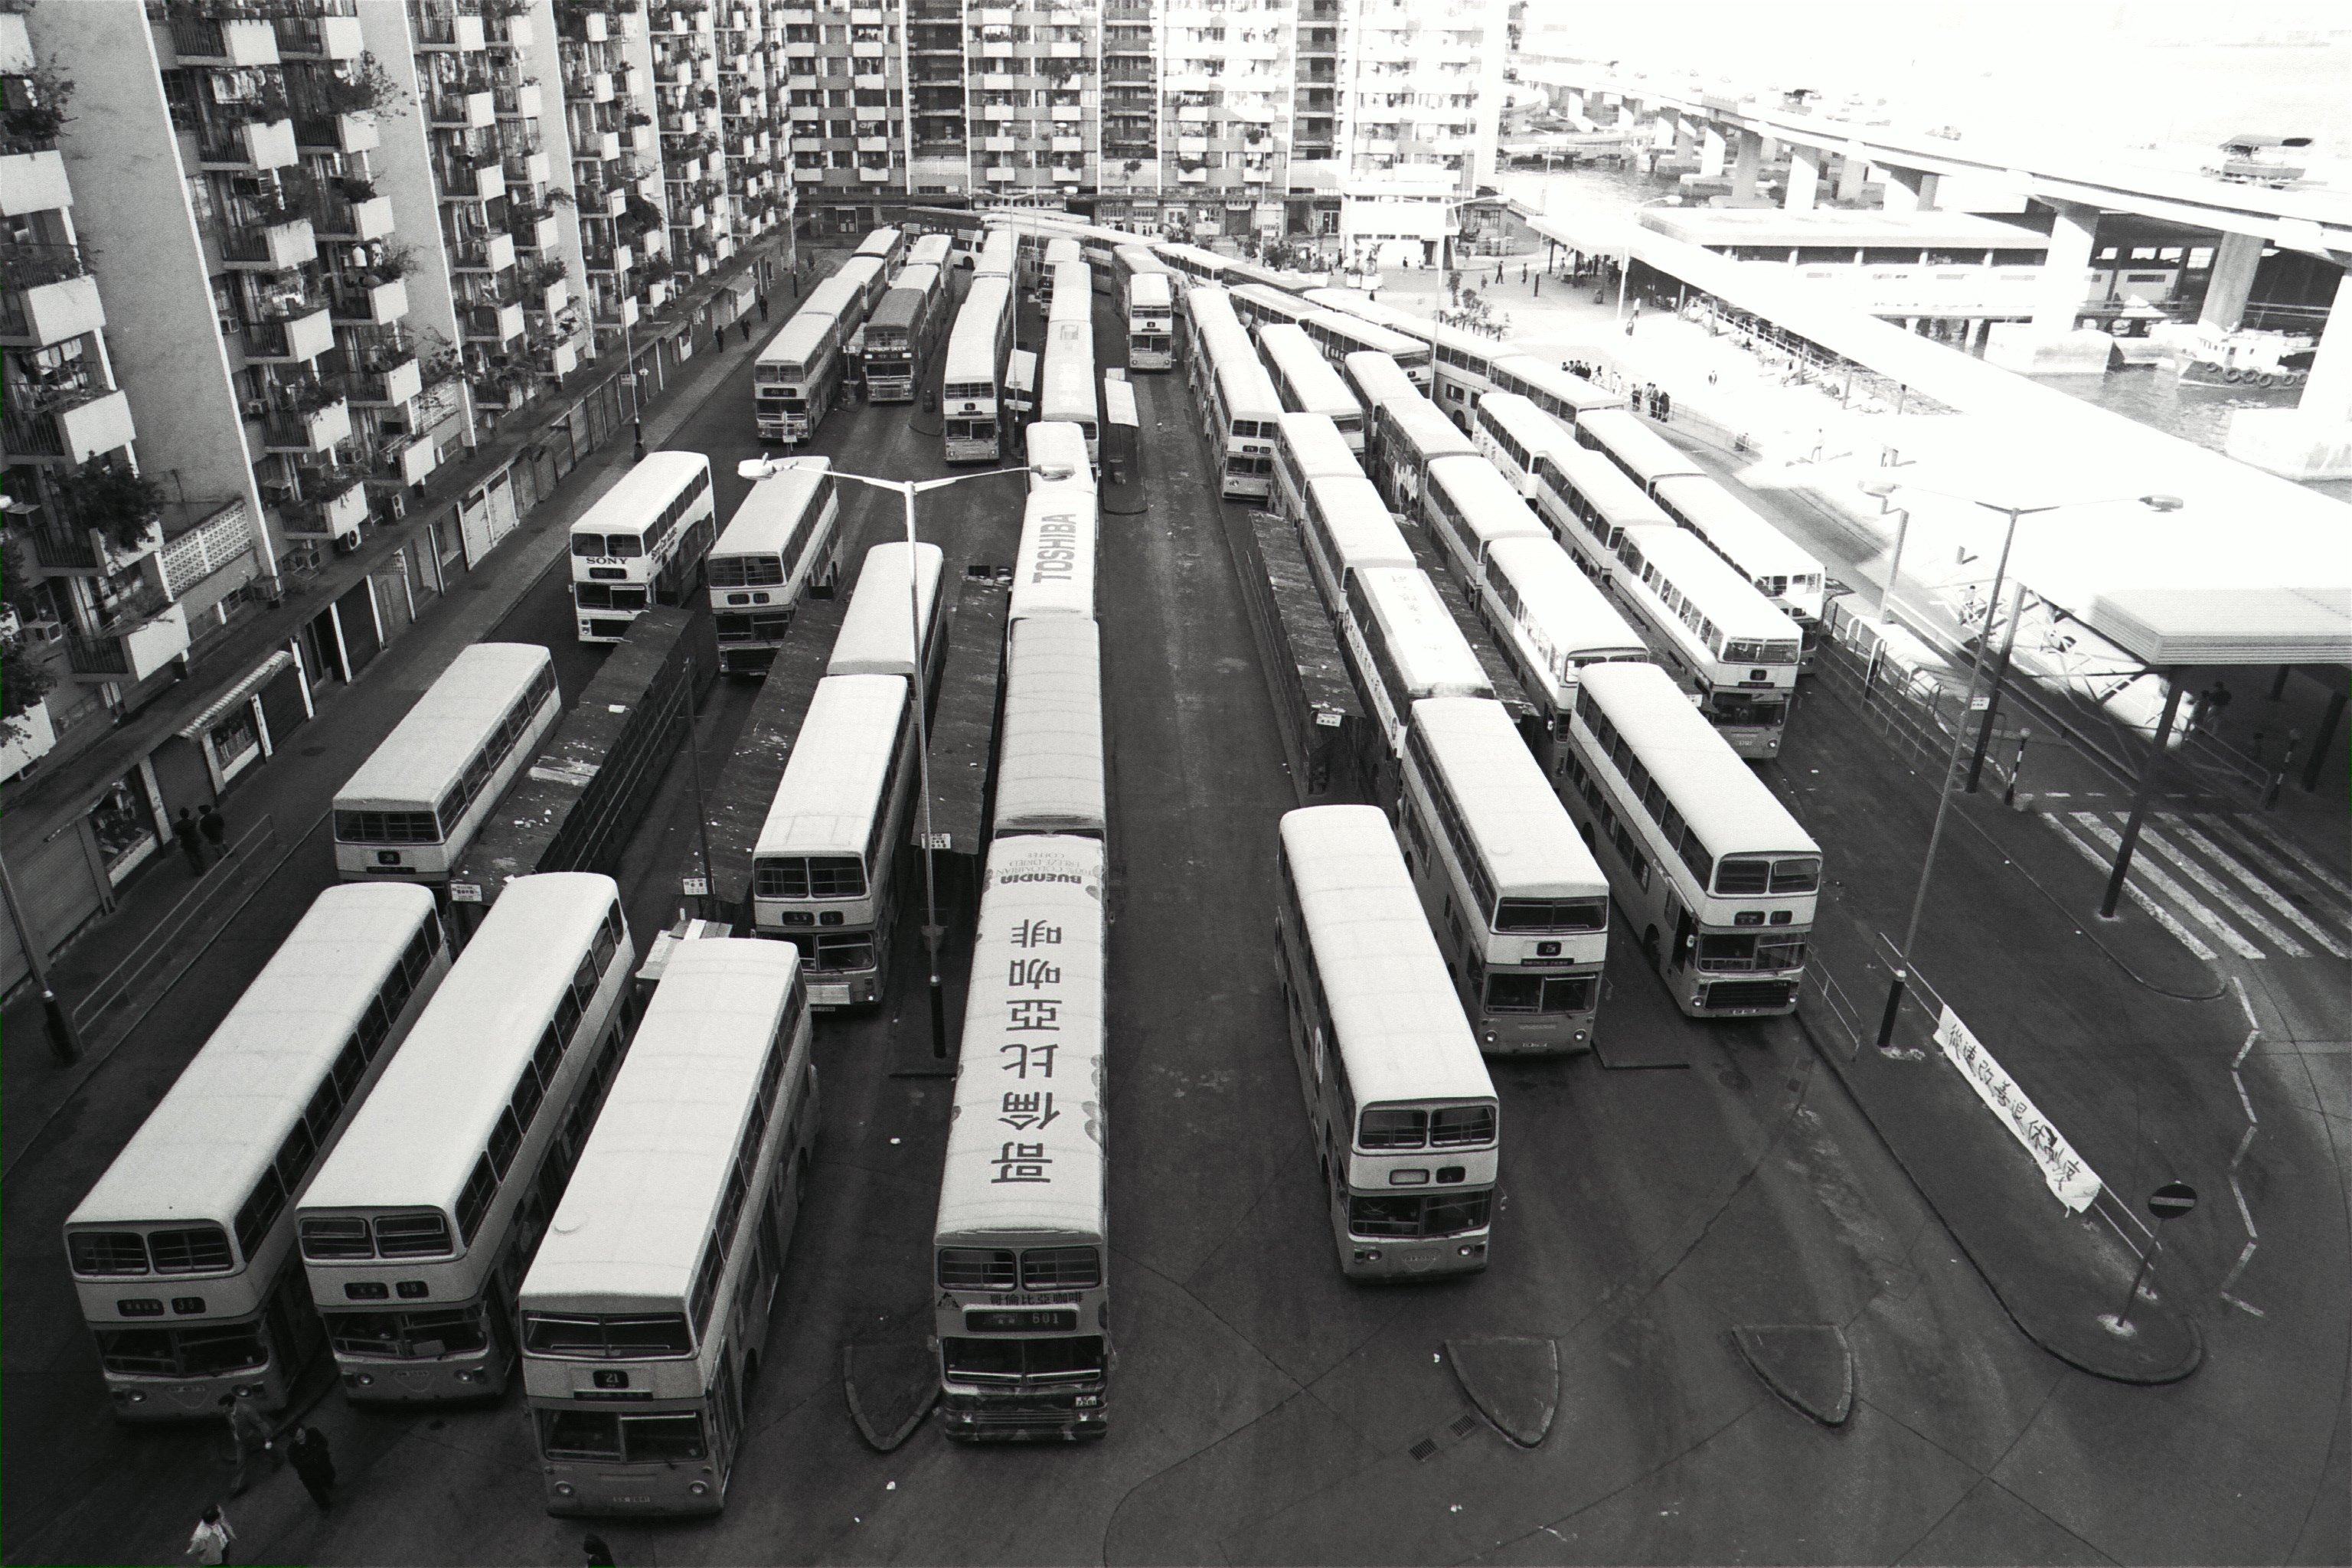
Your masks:
{"label": "white roof of the rightmost front-row bus, nearest the banner kerb", "polygon": [[1609,715],[1710,856],[1820,853],[1672,675],[1644,663],[1592,665],[1578,689]]}

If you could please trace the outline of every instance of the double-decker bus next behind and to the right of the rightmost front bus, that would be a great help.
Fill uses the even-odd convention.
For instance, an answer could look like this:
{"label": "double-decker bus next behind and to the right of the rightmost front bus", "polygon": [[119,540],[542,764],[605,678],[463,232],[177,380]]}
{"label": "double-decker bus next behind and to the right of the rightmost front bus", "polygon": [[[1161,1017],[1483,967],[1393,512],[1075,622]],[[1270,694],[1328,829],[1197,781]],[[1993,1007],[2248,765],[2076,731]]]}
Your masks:
{"label": "double-decker bus next behind and to the right of the rightmost front bus", "polygon": [[1625,529],[1618,602],[1740,757],[1780,755],[1804,632],[1686,529]]}

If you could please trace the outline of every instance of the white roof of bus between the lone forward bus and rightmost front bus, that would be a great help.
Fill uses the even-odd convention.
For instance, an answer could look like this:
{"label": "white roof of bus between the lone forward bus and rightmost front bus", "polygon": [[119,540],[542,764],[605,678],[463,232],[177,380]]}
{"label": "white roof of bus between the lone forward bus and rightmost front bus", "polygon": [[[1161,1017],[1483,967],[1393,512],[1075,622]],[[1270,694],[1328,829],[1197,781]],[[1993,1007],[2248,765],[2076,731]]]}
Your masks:
{"label": "white roof of bus between the lone forward bus and rightmost front bus", "polygon": [[[1536,752],[1501,703],[1432,696],[1414,729],[1444,773],[1501,898],[1606,898],[1609,879],[1576,835]],[[1484,910],[1482,914],[1491,914]]]}

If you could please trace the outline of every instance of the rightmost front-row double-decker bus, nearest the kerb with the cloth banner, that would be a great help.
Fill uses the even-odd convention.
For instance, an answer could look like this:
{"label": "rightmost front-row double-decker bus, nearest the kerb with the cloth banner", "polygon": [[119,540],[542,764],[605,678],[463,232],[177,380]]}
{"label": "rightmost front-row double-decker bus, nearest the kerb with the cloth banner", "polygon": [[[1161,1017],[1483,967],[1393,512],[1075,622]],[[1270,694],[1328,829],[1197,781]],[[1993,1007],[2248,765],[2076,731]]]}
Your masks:
{"label": "rightmost front-row double-decker bus, nearest the kerb with the cloth banner", "polygon": [[1693,1018],[1790,1013],[1820,846],[1656,665],[1592,665],[1569,729],[1569,816],[1642,952]]}

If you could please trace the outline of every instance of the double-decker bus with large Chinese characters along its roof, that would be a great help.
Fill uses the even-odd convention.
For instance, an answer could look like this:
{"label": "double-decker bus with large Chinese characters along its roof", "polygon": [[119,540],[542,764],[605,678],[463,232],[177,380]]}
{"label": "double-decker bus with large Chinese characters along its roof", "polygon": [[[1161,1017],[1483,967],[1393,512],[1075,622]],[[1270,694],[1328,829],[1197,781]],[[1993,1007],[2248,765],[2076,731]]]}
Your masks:
{"label": "double-decker bus with large Chinese characters along its roof", "polygon": [[931,1232],[948,1436],[1105,1432],[1103,966],[1101,839],[995,839]]}

